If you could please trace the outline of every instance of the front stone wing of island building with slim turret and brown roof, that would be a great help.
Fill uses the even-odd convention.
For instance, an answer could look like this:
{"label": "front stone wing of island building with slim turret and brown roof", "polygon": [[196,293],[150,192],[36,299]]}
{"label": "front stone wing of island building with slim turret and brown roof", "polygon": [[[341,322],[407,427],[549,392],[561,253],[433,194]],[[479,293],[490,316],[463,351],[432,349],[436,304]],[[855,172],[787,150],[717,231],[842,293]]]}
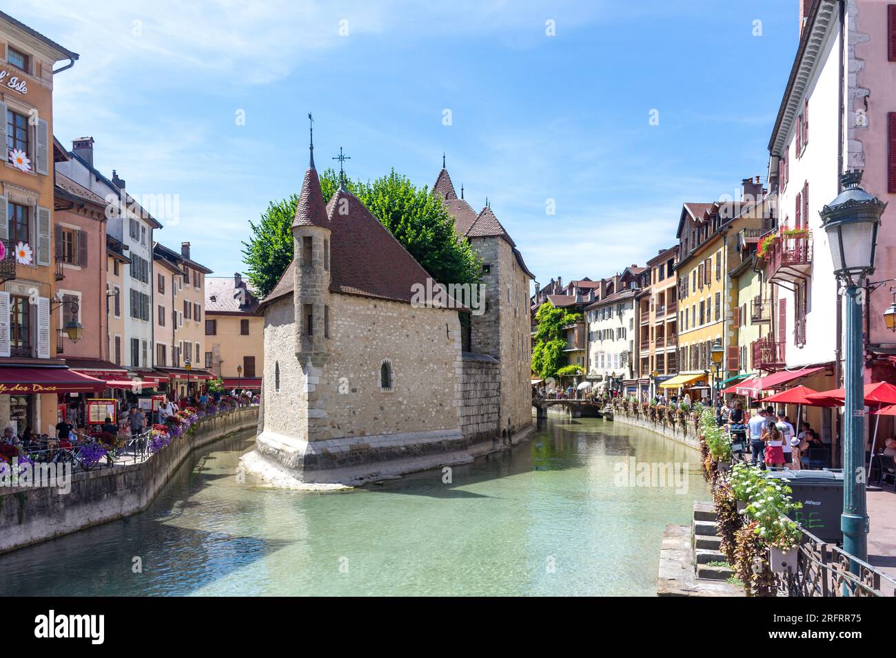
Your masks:
{"label": "front stone wing of island building with slim turret and brown roof", "polygon": [[[528,419],[504,414],[501,363],[461,349],[457,308],[414,303],[429,275],[357,197],[340,185],[324,203],[314,147],[292,232],[294,259],[259,308],[263,402],[247,470],[285,486],[359,484],[525,435],[528,381]],[[526,308],[528,288],[513,293]]]}

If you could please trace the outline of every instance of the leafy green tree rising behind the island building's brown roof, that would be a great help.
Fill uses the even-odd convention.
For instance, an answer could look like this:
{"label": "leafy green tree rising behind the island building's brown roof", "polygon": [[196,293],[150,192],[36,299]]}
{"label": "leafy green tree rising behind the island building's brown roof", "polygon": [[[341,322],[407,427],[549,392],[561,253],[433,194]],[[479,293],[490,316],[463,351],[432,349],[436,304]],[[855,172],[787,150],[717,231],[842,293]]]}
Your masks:
{"label": "leafy green tree rising behind the island building's brown roof", "polygon": [[[339,187],[332,168],[319,174],[323,198],[329,201]],[[418,188],[395,173],[375,181],[345,182],[367,209],[439,283],[475,283],[481,261],[470,243],[454,232],[454,219],[426,187]],[[260,295],[267,295],[289,266],[293,256],[292,219],[297,194],[271,201],[261,220],[249,223],[252,235],[243,243],[247,275]]]}

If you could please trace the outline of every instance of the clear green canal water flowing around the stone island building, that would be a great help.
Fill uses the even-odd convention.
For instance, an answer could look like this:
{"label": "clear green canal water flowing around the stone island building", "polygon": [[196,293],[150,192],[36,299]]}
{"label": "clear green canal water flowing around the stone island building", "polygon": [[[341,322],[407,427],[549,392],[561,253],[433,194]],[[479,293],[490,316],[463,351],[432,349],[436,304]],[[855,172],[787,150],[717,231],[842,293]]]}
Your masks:
{"label": "clear green canal water flowing around the stone island building", "polygon": [[0,556],[0,594],[653,595],[663,527],[709,498],[693,449],[601,419],[550,418],[450,483],[323,494],[240,482],[253,440],[196,453],[141,514]]}

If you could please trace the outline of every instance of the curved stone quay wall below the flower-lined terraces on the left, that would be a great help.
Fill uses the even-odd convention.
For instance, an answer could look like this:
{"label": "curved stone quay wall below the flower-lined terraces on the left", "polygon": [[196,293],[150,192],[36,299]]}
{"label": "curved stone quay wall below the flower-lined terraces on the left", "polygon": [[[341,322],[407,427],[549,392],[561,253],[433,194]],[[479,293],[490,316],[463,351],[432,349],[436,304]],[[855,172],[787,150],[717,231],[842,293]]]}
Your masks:
{"label": "curved stone quay wall below the flower-lined terraces on the left", "polygon": [[0,487],[0,553],[127,517],[149,506],[185,458],[228,434],[254,429],[258,407],[206,416],[139,464],[72,475],[71,491],[57,487]]}

